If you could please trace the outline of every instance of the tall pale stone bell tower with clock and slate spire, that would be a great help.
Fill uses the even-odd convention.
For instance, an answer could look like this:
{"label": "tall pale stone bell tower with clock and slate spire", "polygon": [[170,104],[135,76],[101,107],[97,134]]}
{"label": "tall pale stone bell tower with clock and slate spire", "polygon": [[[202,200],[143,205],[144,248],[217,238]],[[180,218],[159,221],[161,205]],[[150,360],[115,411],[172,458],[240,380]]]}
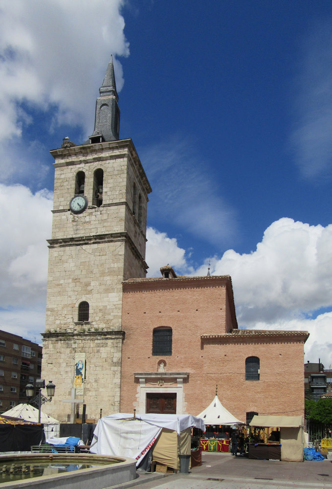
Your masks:
{"label": "tall pale stone bell tower with clock and slate spire", "polygon": [[100,409],[119,410],[122,282],[143,278],[147,270],[151,187],[133,141],[119,140],[112,58],[99,93],[89,141],[76,146],[65,138],[51,151],[55,181],[42,376],[53,380],[56,395],[43,408],[61,422],[69,421],[70,405],[73,410],[63,402],[73,388],[89,418],[99,418]]}

